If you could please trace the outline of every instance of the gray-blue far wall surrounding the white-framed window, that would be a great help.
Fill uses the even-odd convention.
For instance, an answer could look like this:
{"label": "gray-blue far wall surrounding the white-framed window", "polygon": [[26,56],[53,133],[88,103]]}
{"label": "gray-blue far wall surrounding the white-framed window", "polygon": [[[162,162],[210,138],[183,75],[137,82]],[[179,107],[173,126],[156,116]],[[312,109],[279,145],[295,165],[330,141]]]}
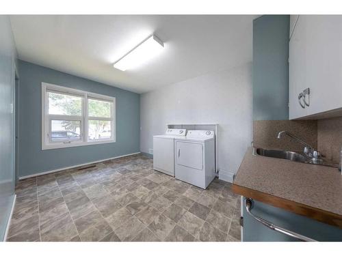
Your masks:
{"label": "gray-blue far wall surrounding the white-framed window", "polygon": [[[19,177],[140,152],[140,95],[19,61]],[[42,82],[116,97],[116,142],[42,150]]]}

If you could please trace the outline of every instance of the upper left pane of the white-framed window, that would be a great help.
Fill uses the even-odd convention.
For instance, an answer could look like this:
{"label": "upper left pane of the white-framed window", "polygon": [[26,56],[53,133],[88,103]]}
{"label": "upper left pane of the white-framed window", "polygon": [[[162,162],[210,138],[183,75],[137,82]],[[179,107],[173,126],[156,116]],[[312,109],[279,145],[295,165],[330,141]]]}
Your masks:
{"label": "upper left pane of the white-framed window", "polygon": [[49,94],[50,115],[82,115],[82,98],[65,94]]}

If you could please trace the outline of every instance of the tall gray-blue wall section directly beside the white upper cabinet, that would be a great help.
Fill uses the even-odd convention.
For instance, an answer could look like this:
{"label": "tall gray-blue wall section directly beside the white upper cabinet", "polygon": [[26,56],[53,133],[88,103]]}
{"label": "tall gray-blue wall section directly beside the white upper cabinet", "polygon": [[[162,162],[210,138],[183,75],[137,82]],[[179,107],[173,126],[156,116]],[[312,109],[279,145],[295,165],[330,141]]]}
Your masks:
{"label": "tall gray-blue wall section directly beside the white upper cabinet", "polygon": [[289,15],[253,20],[253,119],[289,119]]}

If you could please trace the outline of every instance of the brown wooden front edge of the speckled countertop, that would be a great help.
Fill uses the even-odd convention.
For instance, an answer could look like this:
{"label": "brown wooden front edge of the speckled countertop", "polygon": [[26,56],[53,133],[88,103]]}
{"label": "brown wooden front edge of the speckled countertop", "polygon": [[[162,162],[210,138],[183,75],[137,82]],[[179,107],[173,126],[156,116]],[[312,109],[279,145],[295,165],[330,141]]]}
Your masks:
{"label": "brown wooden front edge of the speckled countertop", "polygon": [[295,201],[276,197],[274,195],[253,190],[251,188],[246,188],[237,184],[233,184],[232,188],[233,192],[238,195],[255,199],[257,201],[261,201],[262,203],[267,203],[274,207],[282,208],[289,212],[306,216],[308,218],[313,218],[316,221],[320,221],[328,225],[342,228],[342,215],[335,214],[333,212],[327,212],[319,208],[313,208],[311,206],[304,205],[303,203],[297,203]]}

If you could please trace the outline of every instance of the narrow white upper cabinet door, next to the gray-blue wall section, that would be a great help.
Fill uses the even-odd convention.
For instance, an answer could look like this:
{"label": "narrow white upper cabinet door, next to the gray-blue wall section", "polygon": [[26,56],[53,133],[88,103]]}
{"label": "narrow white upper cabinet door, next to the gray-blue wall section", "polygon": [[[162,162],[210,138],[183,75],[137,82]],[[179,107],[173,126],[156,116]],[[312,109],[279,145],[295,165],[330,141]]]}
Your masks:
{"label": "narrow white upper cabinet door, next to the gray-blue wall section", "polygon": [[[293,20],[293,16],[291,19]],[[298,101],[298,95],[306,88],[306,20],[298,17],[289,42],[289,119],[304,117],[307,109]],[[302,101],[302,104],[304,102]]]}

